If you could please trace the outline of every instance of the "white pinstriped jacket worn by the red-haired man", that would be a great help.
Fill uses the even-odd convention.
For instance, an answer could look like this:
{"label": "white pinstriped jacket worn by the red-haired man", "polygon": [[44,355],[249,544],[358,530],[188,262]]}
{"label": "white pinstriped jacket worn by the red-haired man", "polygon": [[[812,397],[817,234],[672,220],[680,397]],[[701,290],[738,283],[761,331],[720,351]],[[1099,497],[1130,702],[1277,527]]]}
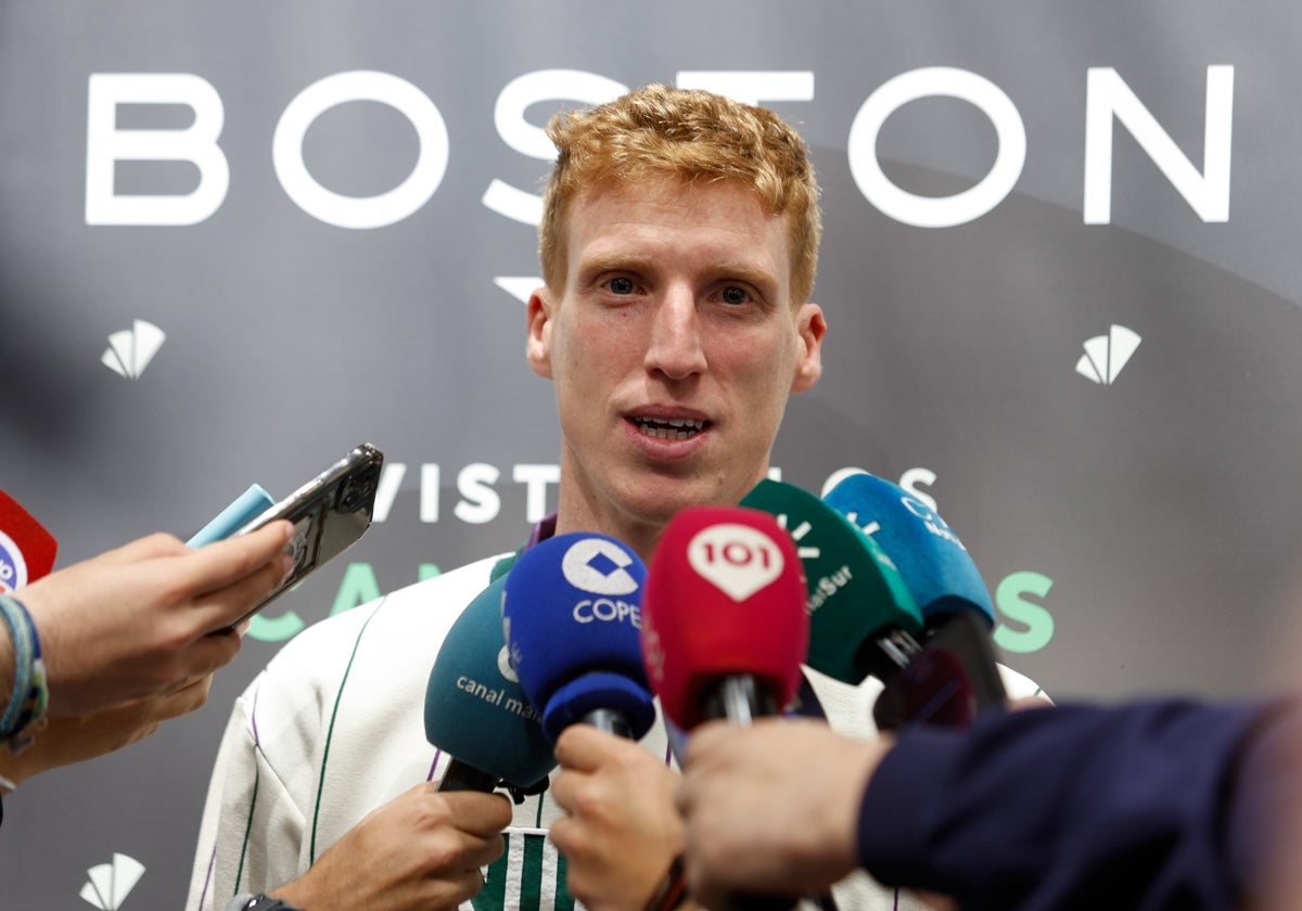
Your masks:
{"label": "white pinstriped jacket worn by the red-haired man", "polygon": [[[232,709],[212,772],[186,908],[220,911],[237,891],[271,891],[297,878],[366,813],[443,774],[447,756],[436,763],[424,737],[430,668],[501,556],[309,627],[249,685]],[[1012,698],[1036,692],[1027,678],[1004,672]],[[875,678],[852,687],[814,672],[809,677],[833,729],[876,733],[872,703],[881,685]],[[643,744],[668,755],[659,718]],[[547,793],[516,807],[506,854],[474,899],[478,911],[570,907],[546,838],[557,815]],[[897,906],[893,891],[865,873],[838,885],[836,901],[841,911],[922,907],[905,895]]]}

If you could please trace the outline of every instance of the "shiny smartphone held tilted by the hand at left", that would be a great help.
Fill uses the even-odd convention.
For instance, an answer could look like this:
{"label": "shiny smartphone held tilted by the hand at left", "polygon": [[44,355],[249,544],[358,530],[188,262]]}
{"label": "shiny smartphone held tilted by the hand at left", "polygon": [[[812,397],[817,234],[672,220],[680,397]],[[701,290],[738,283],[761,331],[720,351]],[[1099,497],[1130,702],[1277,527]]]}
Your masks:
{"label": "shiny smartphone held tilted by the hand at left", "polygon": [[318,566],[353,547],[366,534],[375,511],[375,491],[380,483],[381,467],[384,467],[384,453],[363,442],[233,532],[247,535],[276,519],[289,519],[294,523],[294,536],[288,544],[294,557],[293,571],[232,626],[266,608]]}

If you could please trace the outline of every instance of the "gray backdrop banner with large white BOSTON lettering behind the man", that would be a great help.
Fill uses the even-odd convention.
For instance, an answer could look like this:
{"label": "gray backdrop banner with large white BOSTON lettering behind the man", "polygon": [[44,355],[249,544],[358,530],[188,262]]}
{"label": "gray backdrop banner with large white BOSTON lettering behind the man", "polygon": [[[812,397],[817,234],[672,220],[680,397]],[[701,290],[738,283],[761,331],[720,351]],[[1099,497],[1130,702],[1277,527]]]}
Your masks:
{"label": "gray backdrop banner with large white BOSTON lettering behind the man", "polygon": [[280,646],[555,506],[540,126],[647,82],[811,143],[831,328],[783,479],[932,501],[1051,695],[1259,691],[1302,552],[1298,34],[1285,0],[4,4],[0,488],[57,565],[388,463],[206,708],[5,802],[0,904],[178,907]]}

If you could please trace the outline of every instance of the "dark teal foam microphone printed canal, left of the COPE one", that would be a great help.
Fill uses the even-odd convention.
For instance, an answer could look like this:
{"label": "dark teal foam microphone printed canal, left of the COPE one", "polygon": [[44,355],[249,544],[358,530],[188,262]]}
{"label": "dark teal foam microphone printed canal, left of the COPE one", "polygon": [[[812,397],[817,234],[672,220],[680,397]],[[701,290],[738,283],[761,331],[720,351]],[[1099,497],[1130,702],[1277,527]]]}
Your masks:
{"label": "dark teal foam microphone printed canal, left of the COPE one", "polygon": [[480,592],[448,630],[424,691],[424,735],[453,759],[440,791],[538,793],[556,768],[538,713],[516,679],[501,636],[506,577]]}

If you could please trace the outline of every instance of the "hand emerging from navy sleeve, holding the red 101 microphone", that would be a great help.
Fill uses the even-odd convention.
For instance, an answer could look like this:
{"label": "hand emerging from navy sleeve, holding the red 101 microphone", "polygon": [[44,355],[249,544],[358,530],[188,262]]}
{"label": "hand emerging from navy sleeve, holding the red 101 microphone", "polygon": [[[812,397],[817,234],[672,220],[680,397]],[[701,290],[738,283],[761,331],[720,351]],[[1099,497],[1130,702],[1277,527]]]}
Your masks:
{"label": "hand emerging from navy sleeve, holding the red 101 microphone", "polygon": [[694,727],[677,794],[691,894],[721,907],[727,894],[822,894],[844,878],[858,867],[859,798],[888,748],[806,718]]}

